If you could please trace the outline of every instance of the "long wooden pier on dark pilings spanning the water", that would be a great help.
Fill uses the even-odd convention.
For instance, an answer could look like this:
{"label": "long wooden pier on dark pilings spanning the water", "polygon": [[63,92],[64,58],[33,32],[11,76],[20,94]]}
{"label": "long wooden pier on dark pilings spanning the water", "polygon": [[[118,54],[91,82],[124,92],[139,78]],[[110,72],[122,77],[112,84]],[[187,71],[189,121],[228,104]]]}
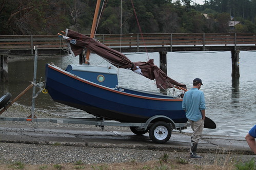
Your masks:
{"label": "long wooden pier on dark pilings spanning the water", "polygon": [[[122,37],[97,34],[95,37],[116,51],[122,49],[122,53],[159,52],[163,70],[167,52],[230,51],[235,78],[240,77],[239,52],[256,51],[256,33],[122,34]],[[61,55],[67,50],[66,43],[57,35],[0,35],[0,54],[34,55],[34,46],[38,46],[38,56]],[[1,56],[2,77],[6,69],[4,58]]]}

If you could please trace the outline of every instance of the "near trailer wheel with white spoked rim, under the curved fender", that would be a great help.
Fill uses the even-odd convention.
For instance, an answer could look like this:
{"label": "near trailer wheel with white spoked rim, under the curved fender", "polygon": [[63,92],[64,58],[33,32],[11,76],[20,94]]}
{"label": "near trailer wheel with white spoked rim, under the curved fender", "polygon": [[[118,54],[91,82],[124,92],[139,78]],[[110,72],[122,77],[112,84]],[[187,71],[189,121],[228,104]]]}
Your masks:
{"label": "near trailer wheel with white spoked rim, under the curved fender", "polygon": [[165,143],[171,137],[171,125],[166,122],[156,122],[149,129],[149,137],[154,143]]}

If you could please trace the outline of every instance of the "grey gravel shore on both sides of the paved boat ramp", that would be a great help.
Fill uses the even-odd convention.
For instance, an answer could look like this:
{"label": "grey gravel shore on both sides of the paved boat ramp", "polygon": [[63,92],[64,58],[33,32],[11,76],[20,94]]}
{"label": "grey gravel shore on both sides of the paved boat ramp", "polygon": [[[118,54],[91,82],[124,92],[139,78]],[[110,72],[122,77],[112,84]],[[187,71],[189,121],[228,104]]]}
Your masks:
{"label": "grey gravel shore on both sides of the paved boat ramp", "polygon": [[[14,103],[6,110],[1,117],[27,117],[30,115],[30,109]],[[35,115],[40,118],[57,118],[47,112],[35,111]],[[34,128],[38,126],[53,126],[53,127],[73,127],[73,128],[95,128],[90,125],[77,124],[56,124],[56,123],[38,123],[38,122],[0,122],[4,124],[21,124],[29,125]],[[99,130],[99,129],[98,129]],[[106,127],[106,130],[129,130],[125,127]],[[104,140],[104,138],[103,138]],[[254,155],[233,155],[223,153],[200,153],[204,156],[201,160],[189,159],[188,152],[168,152],[168,151],[153,151],[139,150],[128,148],[90,148],[90,147],[75,147],[62,144],[25,144],[25,143],[0,143],[0,158],[2,164],[21,161],[25,164],[63,164],[75,163],[82,161],[86,164],[93,163],[122,163],[122,162],[146,162],[158,160],[165,154],[170,160],[176,158],[183,159],[189,164],[213,165],[217,162],[225,164],[230,161],[247,162]],[[189,150],[189,149],[188,149]]]}

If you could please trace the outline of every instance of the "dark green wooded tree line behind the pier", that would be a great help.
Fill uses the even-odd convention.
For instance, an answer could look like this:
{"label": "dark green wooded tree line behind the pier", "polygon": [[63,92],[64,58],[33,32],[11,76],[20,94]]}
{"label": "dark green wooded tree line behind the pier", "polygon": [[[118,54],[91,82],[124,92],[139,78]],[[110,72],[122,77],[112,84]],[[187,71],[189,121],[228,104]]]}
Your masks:
{"label": "dark green wooded tree line behind the pier", "polygon": [[[96,34],[256,32],[256,0],[105,0]],[[1,35],[89,34],[96,0],[0,0]],[[228,21],[240,21],[230,28]]]}

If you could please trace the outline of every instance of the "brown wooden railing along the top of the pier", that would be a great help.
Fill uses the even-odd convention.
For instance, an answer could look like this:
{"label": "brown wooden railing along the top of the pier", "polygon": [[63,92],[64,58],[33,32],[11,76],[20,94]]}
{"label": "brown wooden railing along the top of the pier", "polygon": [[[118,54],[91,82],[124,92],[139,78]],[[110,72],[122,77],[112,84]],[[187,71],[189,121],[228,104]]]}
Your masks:
{"label": "brown wooden railing along the top of the pier", "polygon": [[[256,33],[98,34],[107,46],[256,45]],[[0,35],[0,50],[66,47],[57,35]]]}

